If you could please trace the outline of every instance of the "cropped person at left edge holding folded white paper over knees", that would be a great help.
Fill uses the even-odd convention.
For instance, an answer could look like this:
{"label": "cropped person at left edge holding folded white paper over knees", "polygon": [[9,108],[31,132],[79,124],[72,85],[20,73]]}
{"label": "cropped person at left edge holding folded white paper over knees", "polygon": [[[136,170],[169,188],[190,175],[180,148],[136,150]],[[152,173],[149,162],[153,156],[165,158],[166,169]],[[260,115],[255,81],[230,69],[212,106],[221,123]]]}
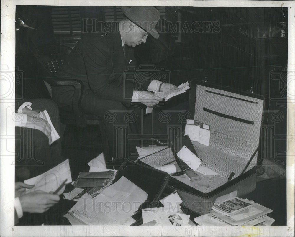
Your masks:
{"label": "cropped person at left edge holding folded white paper over knees", "polygon": [[[40,175],[63,161],[59,139],[63,128],[58,107],[53,101],[26,100],[19,95],[15,97],[15,178],[23,181]],[[47,118],[41,118],[44,110],[56,133],[53,133]],[[54,141],[54,136],[57,141]]]}

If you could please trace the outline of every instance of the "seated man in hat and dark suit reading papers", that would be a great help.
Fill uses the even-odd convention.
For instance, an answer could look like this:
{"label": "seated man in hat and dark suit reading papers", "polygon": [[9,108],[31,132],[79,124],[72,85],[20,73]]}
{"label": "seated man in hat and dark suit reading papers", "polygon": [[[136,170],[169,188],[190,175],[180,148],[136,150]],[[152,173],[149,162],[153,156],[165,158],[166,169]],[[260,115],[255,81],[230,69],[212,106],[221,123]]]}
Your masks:
{"label": "seated man in hat and dark suit reading papers", "polygon": [[[127,125],[128,130],[122,130],[120,138],[114,135],[116,124],[128,124],[127,112],[132,111],[132,114],[137,114],[134,117],[142,119],[145,111],[138,112],[138,109],[132,108],[131,102],[153,107],[162,98],[155,96],[152,91],[178,89],[170,83],[154,80],[148,73],[143,75],[144,72],[135,71],[133,78],[124,77],[127,67],[137,66],[132,47],[145,43],[148,35],[159,37],[155,25],[160,19],[160,13],[150,6],[122,7],[122,11],[125,17],[111,28],[106,28],[105,32],[85,34],[69,55],[68,62],[58,72],[60,79],[83,81],[82,108],[86,113],[104,118],[110,154],[116,168],[124,159],[134,160],[138,157],[136,141],[127,141],[126,138],[127,134],[136,135],[138,131],[131,131]],[[52,91],[53,100],[59,106],[70,105],[73,90],[71,87],[55,87]]]}

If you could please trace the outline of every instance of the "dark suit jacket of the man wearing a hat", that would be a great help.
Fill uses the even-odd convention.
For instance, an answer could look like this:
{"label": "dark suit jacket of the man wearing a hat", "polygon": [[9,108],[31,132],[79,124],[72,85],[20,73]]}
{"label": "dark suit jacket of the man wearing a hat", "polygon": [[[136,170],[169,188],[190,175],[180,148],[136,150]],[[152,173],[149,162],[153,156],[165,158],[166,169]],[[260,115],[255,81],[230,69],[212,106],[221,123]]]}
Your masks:
{"label": "dark suit jacket of the man wearing a hat", "polygon": [[[127,82],[123,78],[127,66],[136,66],[134,50],[126,45],[125,60],[119,28],[114,24],[110,33],[83,35],[69,55],[68,62],[58,72],[58,77],[83,81],[83,96],[94,93],[98,98],[120,101],[129,106],[133,90],[147,90],[152,79]],[[54,88],[53,100],[59,105],[69,105],[72,94],[71,87]]]}

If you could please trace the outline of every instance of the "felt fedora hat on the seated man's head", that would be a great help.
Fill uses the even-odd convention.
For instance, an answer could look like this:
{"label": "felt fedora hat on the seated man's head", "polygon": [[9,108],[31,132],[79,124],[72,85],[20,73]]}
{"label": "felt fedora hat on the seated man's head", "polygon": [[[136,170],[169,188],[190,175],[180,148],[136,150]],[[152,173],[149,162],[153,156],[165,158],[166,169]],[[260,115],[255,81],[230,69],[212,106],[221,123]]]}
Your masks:
{"label": "felt fedora hat on the seated man's head", "polygon": [[122,6],[124,15],[130,21],[148,32],[151,36],[158,39],[159,34],[155,29],[155,25],[160,19],[160,12],[153,6]]}

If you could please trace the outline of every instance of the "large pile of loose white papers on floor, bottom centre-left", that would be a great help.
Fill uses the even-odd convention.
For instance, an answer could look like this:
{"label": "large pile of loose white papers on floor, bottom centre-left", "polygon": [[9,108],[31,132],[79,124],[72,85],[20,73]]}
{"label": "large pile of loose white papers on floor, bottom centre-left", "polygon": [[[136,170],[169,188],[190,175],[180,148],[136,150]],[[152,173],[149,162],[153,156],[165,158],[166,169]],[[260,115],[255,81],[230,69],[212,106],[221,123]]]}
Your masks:
{"label": "large pile of loose white papers on floor, bottom centre-left", "polygon": [[65,217],[72,225],[122,225],[147,198],[145,191],[123,176],[94,198],[84,194]]}

